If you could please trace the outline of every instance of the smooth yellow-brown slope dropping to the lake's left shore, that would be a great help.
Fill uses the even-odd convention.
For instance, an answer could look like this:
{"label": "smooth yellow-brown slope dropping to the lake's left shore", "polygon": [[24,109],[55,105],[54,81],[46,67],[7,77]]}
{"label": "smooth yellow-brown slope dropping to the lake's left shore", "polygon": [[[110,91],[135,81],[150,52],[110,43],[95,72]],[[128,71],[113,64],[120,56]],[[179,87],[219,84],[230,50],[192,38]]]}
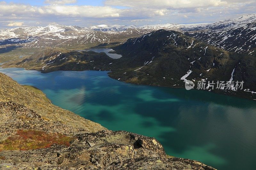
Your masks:
{"label": "smooth yellow-brown slope dropping to the lake's left shore", "polygon": [[[100,124],[84,119],[68,110],[52,105],[43,92],[30,90],[31,87],[19,85],[10,77],[0,73],[0,102],[12,101],[32,109],[47,120],[60,121],[74,128],[84,128],[88,132],[102,129]],[[44,100],[42,100],[44,99]]]}

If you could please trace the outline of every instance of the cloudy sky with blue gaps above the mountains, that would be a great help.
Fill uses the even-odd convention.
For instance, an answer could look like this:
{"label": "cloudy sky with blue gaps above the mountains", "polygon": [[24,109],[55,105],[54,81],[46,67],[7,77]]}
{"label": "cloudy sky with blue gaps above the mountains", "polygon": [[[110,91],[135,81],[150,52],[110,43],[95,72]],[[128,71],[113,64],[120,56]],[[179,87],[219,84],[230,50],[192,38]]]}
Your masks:
{"label": "cloudy sky with blue gaps above the mountains", "polygon": [[0,29],[202,23],[256,12],[256,0],[0,0]]}

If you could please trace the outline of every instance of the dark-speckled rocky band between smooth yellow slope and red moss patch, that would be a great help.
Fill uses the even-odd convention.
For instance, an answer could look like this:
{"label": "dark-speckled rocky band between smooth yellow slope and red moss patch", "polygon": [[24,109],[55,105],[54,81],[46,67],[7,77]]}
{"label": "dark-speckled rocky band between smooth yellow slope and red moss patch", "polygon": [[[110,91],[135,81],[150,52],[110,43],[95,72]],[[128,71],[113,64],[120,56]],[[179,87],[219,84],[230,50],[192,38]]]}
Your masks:
{"label": "dark-speckled rocky band between smooth yellow slope and red moss patch", "polygon": [[74,128],[60,121],[49,121],[34,110],[10,101],[0,102],[0,110],[0,141],[16,134],[18,129],[44,130],[65,135],[85,131],[83,128]]}

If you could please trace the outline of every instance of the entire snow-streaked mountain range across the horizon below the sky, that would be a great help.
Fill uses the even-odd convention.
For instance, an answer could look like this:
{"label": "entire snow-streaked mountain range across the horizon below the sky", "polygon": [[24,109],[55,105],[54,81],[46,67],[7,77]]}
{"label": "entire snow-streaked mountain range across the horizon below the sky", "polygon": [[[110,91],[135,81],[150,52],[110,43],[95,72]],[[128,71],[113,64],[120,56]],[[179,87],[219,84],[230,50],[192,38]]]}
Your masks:
{"label": "entire snow-streaked mountain range across the horizon below the sky", "polygon": [[16,48],[90,48],[99,44],[125,42],[128,38],[159,29],[179,31],[228,51],[256,56],[256,14],[201,24],[18,27],[0,31],[0,53],[8,53]]}

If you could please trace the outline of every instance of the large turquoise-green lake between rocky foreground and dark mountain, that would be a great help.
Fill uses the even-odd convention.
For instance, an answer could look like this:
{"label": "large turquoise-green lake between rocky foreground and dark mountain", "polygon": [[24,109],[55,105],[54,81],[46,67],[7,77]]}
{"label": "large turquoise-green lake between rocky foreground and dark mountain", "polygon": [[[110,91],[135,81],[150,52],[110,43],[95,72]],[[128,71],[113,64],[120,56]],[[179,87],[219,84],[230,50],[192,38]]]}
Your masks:
{"label": "large turquoise-green lake between rocky foreground and dark mountain", "polygon": [[254,170],[256,103],[212,92],[133,85],[106,71],[0,69],[53,104],[111,130],[155,137],[167,154],[219,170]]}

